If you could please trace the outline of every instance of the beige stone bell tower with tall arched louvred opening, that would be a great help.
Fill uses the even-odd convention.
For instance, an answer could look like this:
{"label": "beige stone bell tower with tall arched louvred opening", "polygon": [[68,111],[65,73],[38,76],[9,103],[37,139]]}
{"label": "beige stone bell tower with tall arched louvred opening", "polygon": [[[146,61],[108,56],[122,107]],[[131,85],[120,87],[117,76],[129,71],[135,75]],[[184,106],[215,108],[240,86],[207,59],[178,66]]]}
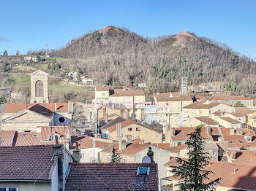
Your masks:
{"label": "beige stone bell tower with tall arched louvred opening", "polygon": [[31,100],[30,103],[49,103],[48,73],[37,70],[31,71]]}

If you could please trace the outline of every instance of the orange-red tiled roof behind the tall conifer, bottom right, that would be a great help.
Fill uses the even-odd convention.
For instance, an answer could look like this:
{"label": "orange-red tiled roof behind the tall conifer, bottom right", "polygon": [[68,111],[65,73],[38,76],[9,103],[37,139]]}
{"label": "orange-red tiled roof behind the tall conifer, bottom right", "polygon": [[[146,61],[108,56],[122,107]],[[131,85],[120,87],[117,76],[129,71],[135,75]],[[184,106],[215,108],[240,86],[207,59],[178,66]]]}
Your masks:
{"label": "orange-red tiled roof behind the tall conifer, bottom right", "polygon": [[[206,166],[206,171],[213,171],[209,179],[214,180],[222,178],[217,186],[233,187],[243,190],[256,190],[256,166],[255,165],[239,165],[233,163],[223,163],[212,161],[211,165]],[[176,158],[173,158],[166,166],[177,165]],[[178,177],[170,177],[170,179],[178,179]]]}

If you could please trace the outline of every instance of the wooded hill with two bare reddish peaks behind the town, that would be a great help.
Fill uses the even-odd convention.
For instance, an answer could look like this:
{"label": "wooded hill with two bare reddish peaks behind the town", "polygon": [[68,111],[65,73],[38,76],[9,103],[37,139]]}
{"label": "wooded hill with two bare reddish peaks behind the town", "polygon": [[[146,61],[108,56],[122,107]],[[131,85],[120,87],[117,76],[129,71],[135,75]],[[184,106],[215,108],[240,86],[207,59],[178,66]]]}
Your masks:
{"label": "wooded hill with two bare reddish peaks behind the town", "polygon": [[187,31],[151,39],[108,26],[72,39],[51,55],[76,59],[62,67],[75,65],[99,84],[146,82],[149,93],[179,90],[182,76],[189,85],[222,81],[227,90],[243,95],[256,90],[255,61]]}

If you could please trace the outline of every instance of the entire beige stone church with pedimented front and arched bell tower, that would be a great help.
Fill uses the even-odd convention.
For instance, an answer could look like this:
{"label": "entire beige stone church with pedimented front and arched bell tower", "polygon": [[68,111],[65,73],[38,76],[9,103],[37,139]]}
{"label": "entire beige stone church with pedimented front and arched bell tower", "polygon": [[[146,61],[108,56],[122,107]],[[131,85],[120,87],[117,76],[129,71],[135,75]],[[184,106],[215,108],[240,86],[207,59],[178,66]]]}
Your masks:
{"label": "entire beige stone church with pedimented front and arched bell tower", "polygon": [[48,73],[31,71],[30,104],[0,104],[0,130],[37,132],[43,126],[68,126],[73,103],[49,103]]}

